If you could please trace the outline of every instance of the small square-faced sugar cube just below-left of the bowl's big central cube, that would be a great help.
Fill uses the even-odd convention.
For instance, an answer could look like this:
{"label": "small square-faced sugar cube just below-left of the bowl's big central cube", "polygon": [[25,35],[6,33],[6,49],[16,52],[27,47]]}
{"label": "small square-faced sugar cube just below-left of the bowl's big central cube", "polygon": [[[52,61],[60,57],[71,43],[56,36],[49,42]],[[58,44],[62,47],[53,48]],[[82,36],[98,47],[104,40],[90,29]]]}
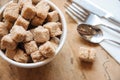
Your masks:
{"label": "small square-faced sugar cube just below-left of the bowl's big central cube", "polygon": [[35,41],[30,41],[28,43],[25,43],[24,47],[25,47],[25,50],[26,50],[27,54],[31,54],[31,53],[38,50],[38,47],[37,47],[37,44],[36,44]]}

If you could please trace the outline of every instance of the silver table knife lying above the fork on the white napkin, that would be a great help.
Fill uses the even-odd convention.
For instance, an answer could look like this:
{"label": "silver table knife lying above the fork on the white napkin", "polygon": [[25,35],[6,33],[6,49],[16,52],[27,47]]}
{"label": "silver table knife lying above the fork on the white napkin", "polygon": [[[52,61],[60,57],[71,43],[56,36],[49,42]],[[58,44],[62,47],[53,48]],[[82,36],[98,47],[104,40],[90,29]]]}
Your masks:
{"label": "silver table knife lying above the fork on the white napkin", "polygon": [[99,16],[100,18],[104,18],[110,21],[111,23],[120,26],[120,21],[117,20],[114,17],[114,15],[112,15],[110,12],[106,11],[105,9],[99,7],[98,5],[94,4],[91,0],[73,0],[72,3],[75,3],[76,5],[83,7],[84,9]]}

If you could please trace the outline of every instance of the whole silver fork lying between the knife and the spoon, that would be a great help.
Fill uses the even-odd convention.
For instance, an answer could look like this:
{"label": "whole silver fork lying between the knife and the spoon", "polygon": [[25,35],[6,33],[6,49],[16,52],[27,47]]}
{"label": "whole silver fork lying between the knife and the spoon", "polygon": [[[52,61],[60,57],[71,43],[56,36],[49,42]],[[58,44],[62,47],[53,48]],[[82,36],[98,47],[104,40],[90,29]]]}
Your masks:
{"label": "whole silver fork lying between the knife and the spoon", "polygon": [[[78,24],[84,22],[90,25],[105,25],[101,21],[100,17],[96,16],[92,12],[85,10],[84,8],[78,6],[75,3],[72,4],[65,3],[64,7],[66,8],[66,12],[68,13],[68,15],[70,15],[73,18],[73,20],[75,20]],[[110,26],[105,26],[105,27],[116,31],[117,33],[120,33],[119,30],[112,28]]]}

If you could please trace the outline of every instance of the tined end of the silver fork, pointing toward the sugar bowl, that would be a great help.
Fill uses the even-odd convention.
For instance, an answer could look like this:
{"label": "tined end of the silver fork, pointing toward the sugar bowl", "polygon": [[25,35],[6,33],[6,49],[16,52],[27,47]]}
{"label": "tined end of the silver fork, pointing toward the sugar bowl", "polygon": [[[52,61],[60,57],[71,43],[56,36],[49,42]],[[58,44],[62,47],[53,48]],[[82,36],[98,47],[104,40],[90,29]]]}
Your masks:
{"label": "tined end of the silver fork, pointing toward the sugar bowl", "polygon": [[79,24],[84,22],[89,13],[82,7],[78,7],[76,4],[65,3],[66,12]]}

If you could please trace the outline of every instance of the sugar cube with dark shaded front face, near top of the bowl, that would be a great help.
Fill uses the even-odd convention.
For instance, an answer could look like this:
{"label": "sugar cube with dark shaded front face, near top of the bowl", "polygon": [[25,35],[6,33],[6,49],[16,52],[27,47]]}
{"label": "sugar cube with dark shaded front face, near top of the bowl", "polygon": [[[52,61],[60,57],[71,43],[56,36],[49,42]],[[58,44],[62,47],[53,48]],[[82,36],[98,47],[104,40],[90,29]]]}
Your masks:
{"label": "sugar cube with dark shaded front face, near top of the bowl", "polygon": [[32,4],[26,4],[23,6],[21,12],[23,18],[25,18],[26,20],[31,20],[34,18],[35,14],[35,7]]}

